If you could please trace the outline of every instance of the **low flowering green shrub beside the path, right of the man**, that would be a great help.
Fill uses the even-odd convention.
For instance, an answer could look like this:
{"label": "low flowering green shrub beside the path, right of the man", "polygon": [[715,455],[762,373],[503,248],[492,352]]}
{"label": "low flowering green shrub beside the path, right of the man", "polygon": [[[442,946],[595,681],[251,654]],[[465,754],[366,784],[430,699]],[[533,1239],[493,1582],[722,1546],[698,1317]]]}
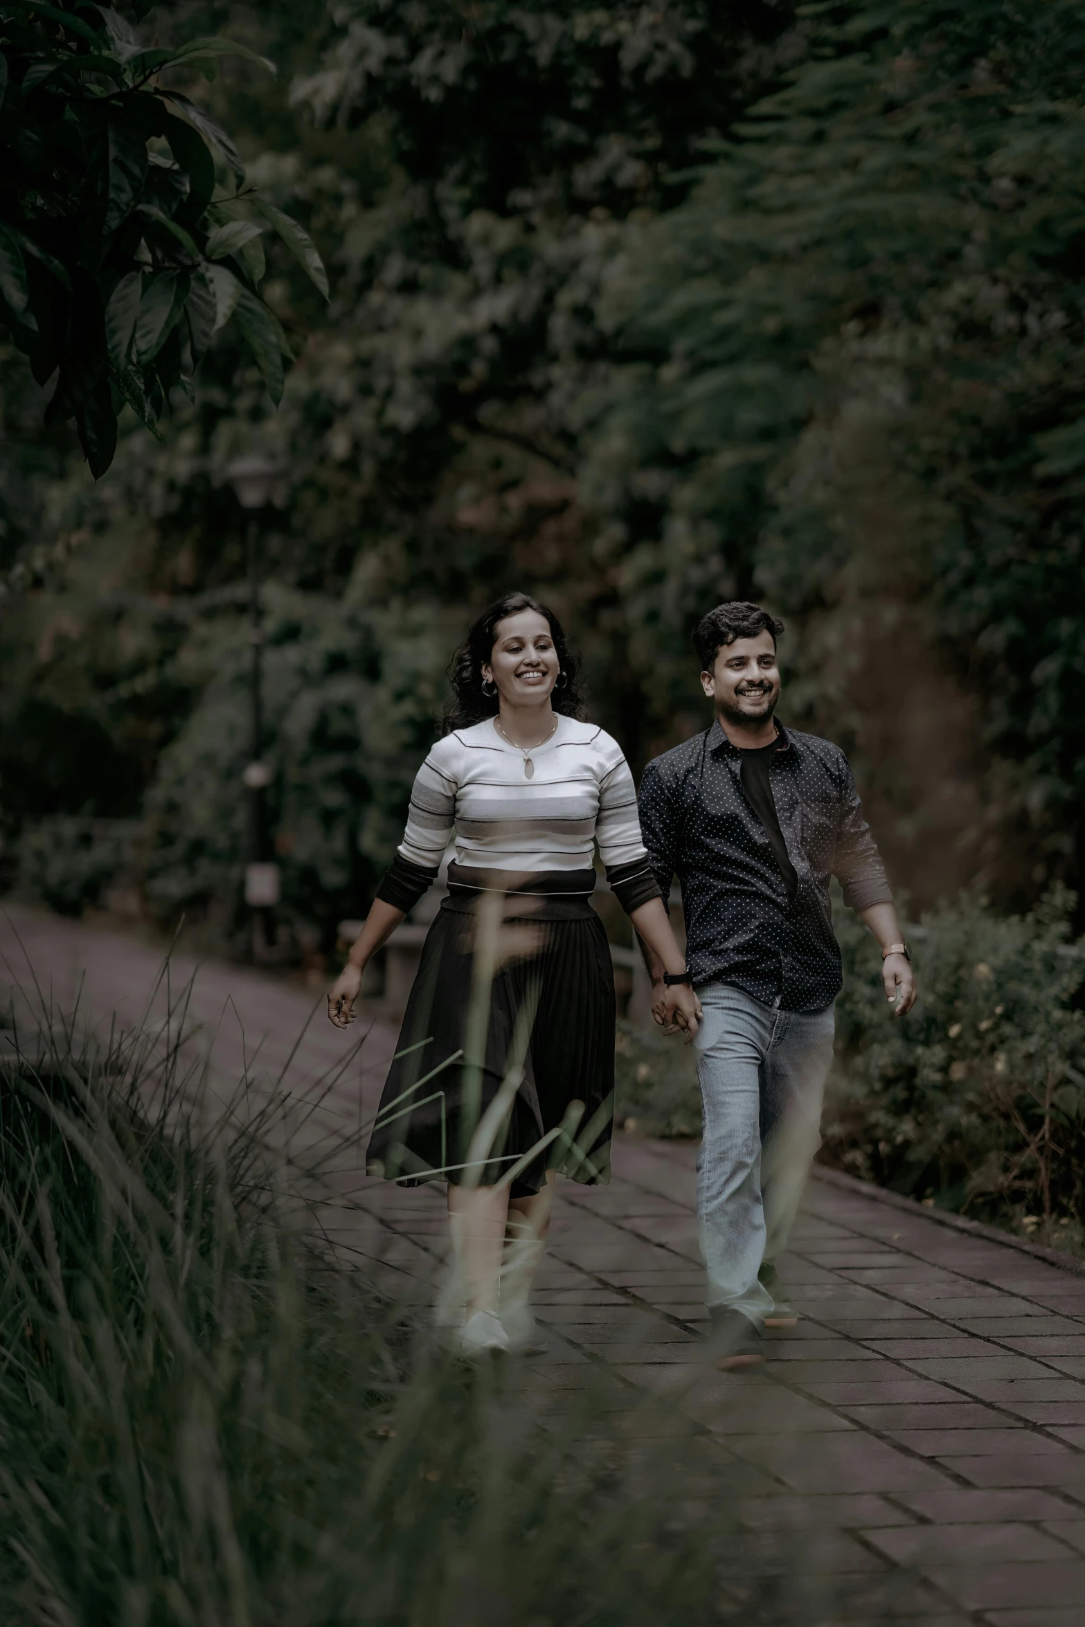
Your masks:
{"label": "low flowering green shrub beside the path, right of the man", "polygon": [[1085,942],[1052,892],[1005,919],[965,896],[924,919],[919,1002],[885,1010],[869,934],[844,916],[825,1139],[864,1180],[942,1207],[1085,1219]]}

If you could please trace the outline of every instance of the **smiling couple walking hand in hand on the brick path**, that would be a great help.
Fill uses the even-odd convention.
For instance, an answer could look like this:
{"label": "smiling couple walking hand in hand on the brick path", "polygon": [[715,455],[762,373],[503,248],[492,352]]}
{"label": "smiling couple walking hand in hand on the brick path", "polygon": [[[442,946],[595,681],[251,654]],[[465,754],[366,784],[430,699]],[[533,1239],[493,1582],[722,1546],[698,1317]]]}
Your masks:
{"label": "smiling couple walking hand in hand on the brick path", "polygon": [[[782,622],[752,604],[693,633],[709,729],[644,770],[586,722],[558,618],[506,594],[451,667],[444,735],[403,841],[329,992],[353,1022],[361,975],[455,843],[373,1129],[369,1173],[447,1180],[465,1298],[459,1349],[537,1347],[530,1284],[558,1175],[610,1178],[615,991],[589,900],[594,844],[652,979],[652,1015],[696,1046],[698,1220],[711,1349],[761,1360],[795,1319],[776,1259],[818,1147],[841,960],[830,879],[882,947],[896,1015],[911,957],[839,747],[776,721]],[[682,883],[686,952],[670,927]]]}

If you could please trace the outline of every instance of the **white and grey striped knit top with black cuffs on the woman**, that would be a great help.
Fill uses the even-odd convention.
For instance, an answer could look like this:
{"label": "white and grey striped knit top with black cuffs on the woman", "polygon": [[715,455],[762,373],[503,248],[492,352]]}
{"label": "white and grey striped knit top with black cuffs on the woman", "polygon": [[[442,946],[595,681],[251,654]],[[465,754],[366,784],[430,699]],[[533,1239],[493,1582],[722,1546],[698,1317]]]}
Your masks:
{"label": "white and grey striped knit top with black cuffs on the woman", "polygon": [[438,740],[418,770],[397,862],[377,896],[410,908],[452,838],[455,875],[506,870],[568,885],[574,874],[587,874],[586,892],[594,887],[599,843],[607,877],[626,909],[659,896],[633,774],[618,742],[595,724],[560,716],[550,740],[530,758],[534,776],[527,779],[524,753],[501,739],[493,719]]}

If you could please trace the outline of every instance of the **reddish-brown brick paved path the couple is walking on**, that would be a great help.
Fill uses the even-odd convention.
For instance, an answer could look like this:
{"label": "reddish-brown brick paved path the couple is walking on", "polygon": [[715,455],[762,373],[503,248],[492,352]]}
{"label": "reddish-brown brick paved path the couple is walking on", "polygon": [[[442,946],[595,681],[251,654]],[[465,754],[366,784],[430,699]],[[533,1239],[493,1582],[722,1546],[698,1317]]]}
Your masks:
{"label": "reddish-brown brick paved path the couple is walking on", "polygon": [[[88,1007],[138,1014],[156,952],[13,918],[59,997],[85,968]],[[0,957],[18,958],[3,918]],[[221,1067],[237,1062],[244,1027],[247,1054],[259,1043],[259,1066],[278,1074],[311,999],[207,966],[194,1007],[208,1030],[228,996],[239,1017],[220,1030]],[[314,1023],[288,1082],[301,1093],[338,1069],[356,1032]],[[387,1028],[371,1033],[333,1084],[325,1123],[353,1126],[373,1110],[392,1043]],[[561,1184],[537,1293],[550,1349],[525,1376],[532,1404],[560,1411],[590,1373],[626,1402],[644,1399],[646,1433],[670,1417],[701,1456],[747,1464],[743,1520],[766,1549],[784,1531],[848,1583],[833,1619],[1085,1627],[1085,1274],[823,1173],[782,1263],[802,1321],[769,1336],[763,1372],[717,1373],[701,1341],[693,1158],[686,1144],[618,1137],[610,1188]],[[368,1181],[355,1152],[340,1178],[359,1204],[343,1220],[350,1245],[412,1298],[431,1298],[442,1196]]]}

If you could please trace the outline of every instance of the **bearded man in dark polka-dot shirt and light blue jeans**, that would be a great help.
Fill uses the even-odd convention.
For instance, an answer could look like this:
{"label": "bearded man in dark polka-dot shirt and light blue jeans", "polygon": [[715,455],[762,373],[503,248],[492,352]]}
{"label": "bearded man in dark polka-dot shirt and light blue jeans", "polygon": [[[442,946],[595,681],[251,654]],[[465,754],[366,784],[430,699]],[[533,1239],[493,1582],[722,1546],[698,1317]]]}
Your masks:
{"label": "bearded man in dark polka-dot shirt and light blue jeans", "polygon": [[[693,644],[716,721],[651,761],[641,784],[664,900],[675,872],[682,883],[686,981],[703,1009],[698,1217],[721,1367],[760,1362],[761,1328],[795,1321],[776,1259],[820,1145],[833,1059],[841,958],[831,875],[882,947],[895,1015],[916,999],[848,758],[776,721],[782,631],[752,604],[719,605],[698,623]],[[644,953],[660,1020],[667,979]]]}

